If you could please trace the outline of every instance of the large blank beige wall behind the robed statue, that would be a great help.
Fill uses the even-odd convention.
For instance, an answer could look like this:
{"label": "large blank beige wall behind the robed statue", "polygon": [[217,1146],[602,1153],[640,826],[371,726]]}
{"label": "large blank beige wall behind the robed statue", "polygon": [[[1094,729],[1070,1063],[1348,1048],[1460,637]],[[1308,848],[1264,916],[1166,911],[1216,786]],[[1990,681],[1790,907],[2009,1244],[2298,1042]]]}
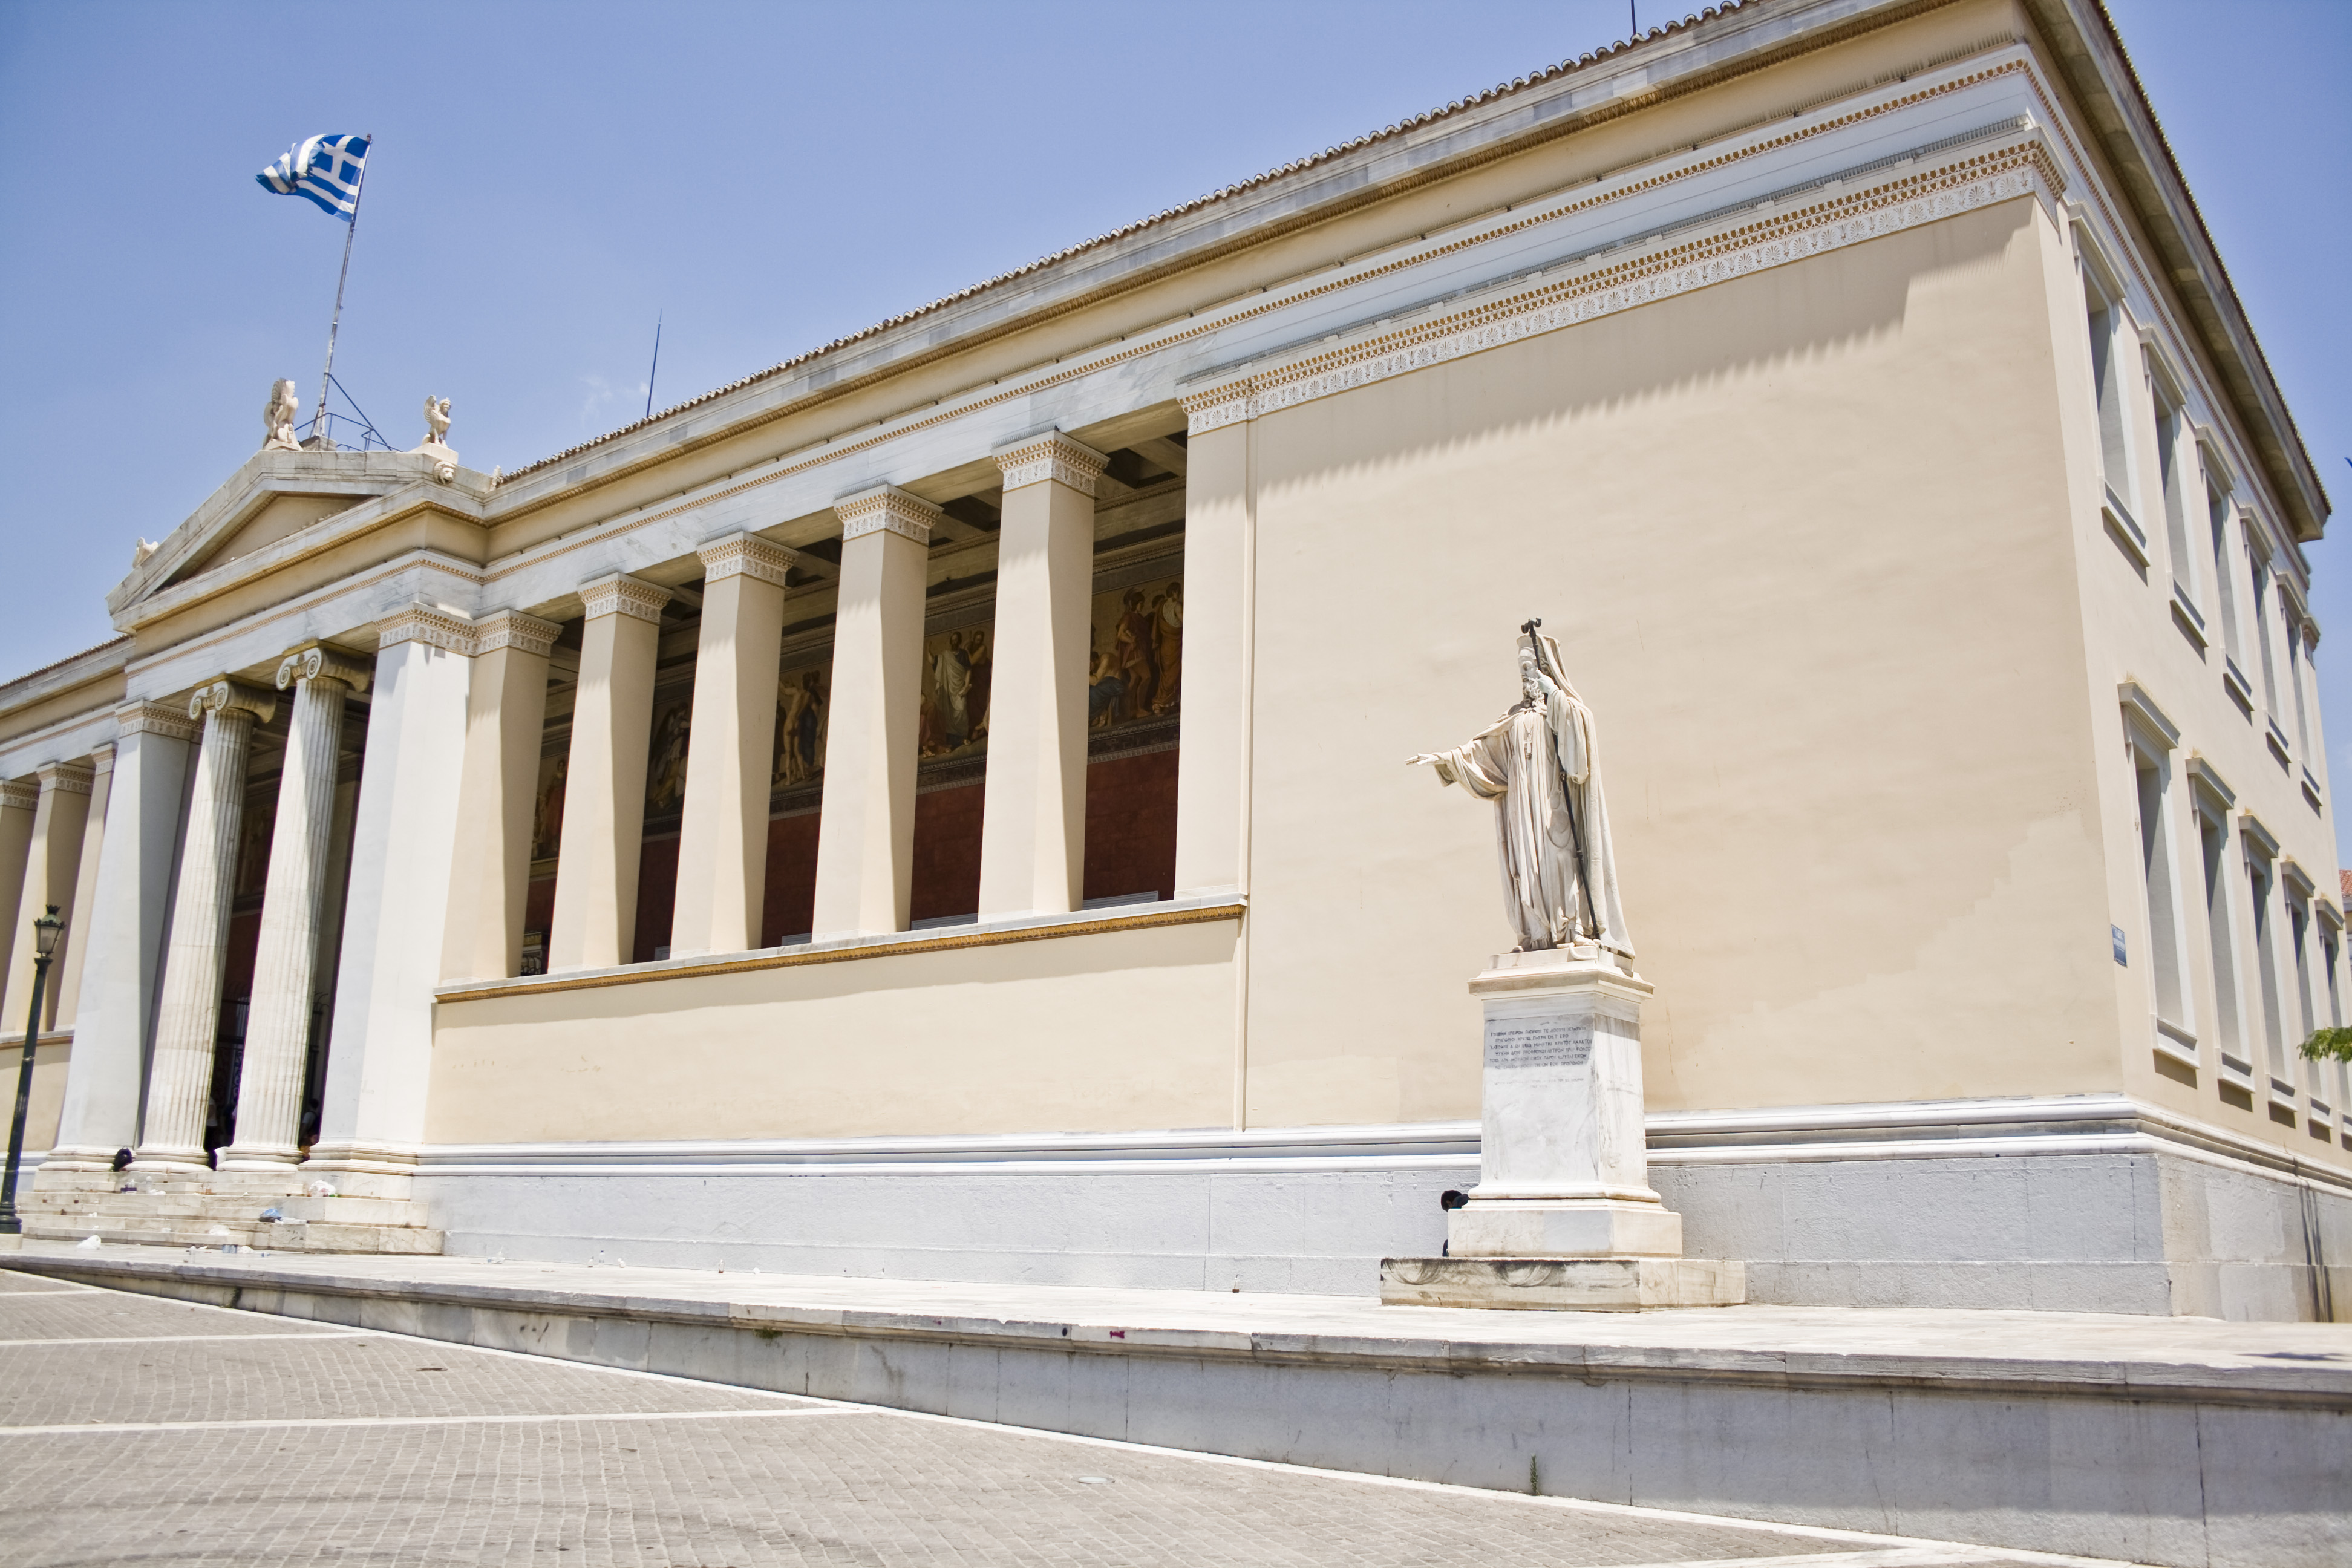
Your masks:
{"label": "large blank beige wall behind the robed statue", "polygon": [[1258,421],[1249,1119],[1477,1112],[1538,614],[1602,722],[1656,1110],[2114,1088],[2030,200]]}

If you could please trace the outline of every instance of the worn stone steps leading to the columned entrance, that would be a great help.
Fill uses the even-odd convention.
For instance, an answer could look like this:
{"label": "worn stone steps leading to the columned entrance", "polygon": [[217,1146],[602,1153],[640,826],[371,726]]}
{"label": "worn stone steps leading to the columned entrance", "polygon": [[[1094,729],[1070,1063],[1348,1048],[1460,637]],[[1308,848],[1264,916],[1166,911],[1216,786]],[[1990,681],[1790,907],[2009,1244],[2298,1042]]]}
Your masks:
{"label": "worn stone steps leading to the columned entrance", "polygon": [[[268,1253],[437,1255],[442,1232],[405,1175],[336,1173],[320,1194],[296,1171],[40,1171],[19,1201],[40,1241],[247,1246]],[[275,1208],[280,1220],[263,1220]]]}

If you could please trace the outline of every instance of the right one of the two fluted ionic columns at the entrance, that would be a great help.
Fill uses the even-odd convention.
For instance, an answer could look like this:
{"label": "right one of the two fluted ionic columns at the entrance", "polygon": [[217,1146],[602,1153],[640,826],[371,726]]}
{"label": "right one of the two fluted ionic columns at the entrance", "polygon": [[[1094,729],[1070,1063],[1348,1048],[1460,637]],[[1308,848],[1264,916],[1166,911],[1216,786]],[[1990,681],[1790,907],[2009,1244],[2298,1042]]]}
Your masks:
{"label": "right one of the two fluted ionic columns at the entrance", "polygon": [[343,696],[365,684],[365,665],[322,646],[296,649],[278,665],[278,689],[294,689],[294,717],[278,776],[270,870],[261,886],[261,945],[245,1016],[235,1143],[221,1150],[223,1171],[275,1171],[301,1159],[301,1077],[310,1051],[334,764],[343,738]]}

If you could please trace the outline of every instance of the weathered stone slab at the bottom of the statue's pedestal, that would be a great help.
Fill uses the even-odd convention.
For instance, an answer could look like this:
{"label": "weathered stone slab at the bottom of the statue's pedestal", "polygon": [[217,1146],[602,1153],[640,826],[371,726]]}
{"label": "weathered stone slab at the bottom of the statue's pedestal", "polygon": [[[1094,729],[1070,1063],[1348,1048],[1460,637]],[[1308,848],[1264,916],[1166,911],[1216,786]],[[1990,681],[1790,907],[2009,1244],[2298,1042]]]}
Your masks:
{"label": "weathered stone slab at the bottom of the statue's pedestal", "polygon": [[1383,1258],[1383,1307],[1642,1312],[1738,1307],[1748,1265],[1705,1258]]}

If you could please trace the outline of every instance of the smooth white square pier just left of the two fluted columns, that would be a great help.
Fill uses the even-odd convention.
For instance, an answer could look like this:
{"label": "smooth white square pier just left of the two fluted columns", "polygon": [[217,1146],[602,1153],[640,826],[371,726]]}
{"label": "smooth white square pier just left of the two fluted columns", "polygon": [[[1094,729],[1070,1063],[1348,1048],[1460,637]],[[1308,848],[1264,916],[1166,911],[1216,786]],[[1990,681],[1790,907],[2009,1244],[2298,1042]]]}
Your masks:
{"label": "smooth white square pier just left of the two fluted columns", "polygon": [[[188,748],[198,733],[186,708],[129,703],[115,710],[115,766],[96,882],[80,900],[80,931],[66,931],[68,976],[78,978],[73,1056],[66,1058],[56,1147],[42,1171],[103,1171],[115,1150],[139,1143],[155,959],[172,900]],[[92,820],[99,820],[96,811]]]}

